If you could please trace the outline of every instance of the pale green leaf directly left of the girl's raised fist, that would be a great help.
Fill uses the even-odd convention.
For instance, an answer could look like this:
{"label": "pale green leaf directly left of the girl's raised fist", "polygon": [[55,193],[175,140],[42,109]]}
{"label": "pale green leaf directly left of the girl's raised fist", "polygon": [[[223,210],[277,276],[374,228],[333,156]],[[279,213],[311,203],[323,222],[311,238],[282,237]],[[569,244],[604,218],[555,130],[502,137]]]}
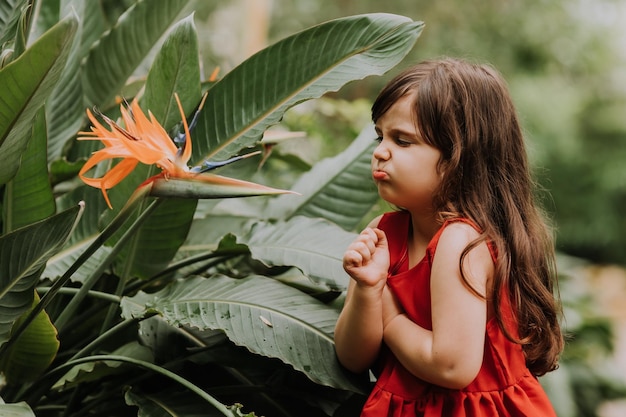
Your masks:
{"label": "pale green leaf directly left of the girl's raised fist", "polygon": [[237,241],[267,265],[296,266],[314,282],[344,290],[348,275],[342,256],[355,237],[327,220],[299,216],[276,224],[258,223]]}

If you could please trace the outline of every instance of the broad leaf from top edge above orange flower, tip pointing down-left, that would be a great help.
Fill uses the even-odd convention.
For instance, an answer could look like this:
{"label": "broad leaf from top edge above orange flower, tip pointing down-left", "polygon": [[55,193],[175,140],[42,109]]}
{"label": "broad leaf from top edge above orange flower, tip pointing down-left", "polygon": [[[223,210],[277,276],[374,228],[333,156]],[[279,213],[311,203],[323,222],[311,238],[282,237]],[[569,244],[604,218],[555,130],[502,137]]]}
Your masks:
{"label": "broad leaf from top edge above orange flower, tip pointing down-left", "polygon": [[102,106],[114,98],[187,3],[140,0],[120,16],[83,65],[83,89],[89,104]]}

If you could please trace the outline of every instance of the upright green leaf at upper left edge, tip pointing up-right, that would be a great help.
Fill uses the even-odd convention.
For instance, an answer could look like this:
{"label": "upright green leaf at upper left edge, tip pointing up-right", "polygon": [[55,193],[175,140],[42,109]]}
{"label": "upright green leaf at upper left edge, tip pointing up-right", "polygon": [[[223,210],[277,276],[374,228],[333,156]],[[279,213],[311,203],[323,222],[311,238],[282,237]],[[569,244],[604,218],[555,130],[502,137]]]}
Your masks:
{"label": "upright green leaf at upper left edge, tip pointing up-right", "polygon": [[32,120],[61,76],[76,26],[74,17],[62,20],[0,70],[0,184],[19,167]]}

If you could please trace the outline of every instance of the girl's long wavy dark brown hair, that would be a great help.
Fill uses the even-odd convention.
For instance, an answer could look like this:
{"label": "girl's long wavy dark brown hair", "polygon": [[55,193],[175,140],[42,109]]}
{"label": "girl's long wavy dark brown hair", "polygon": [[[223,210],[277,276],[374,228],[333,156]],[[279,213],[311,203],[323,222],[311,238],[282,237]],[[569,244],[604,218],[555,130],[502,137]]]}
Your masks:
{"label": "girl's long wavy dark brown hair", "polygon": [[[522,345],[531,372],[556,369],[563,336],[553,236],[535,202],[536,186],[505,81],[489,65],[452,58],[425,61],[380,92],[372,106],[374,122],[408,93],[416,93],[418,131],[442,155],[435,209],[442,218],[466,217],[482,229],[461,264],[478,243],[488,240],[495,246],[490,294],[498,324]],[[519,337],[505,325],[503,296],[513,306]]]}

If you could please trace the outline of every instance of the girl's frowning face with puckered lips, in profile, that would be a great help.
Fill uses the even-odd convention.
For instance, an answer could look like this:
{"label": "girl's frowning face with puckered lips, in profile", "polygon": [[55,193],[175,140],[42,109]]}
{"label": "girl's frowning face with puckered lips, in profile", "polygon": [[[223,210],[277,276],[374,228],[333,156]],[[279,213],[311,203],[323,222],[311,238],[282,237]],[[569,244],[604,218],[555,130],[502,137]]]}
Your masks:
{"label": "girl's frowning face with puckered lips, in profile", "polygon": [[376,121],[380,144],[372,154],[372,177],[385,201],[431,214],[432,195],[441,182],[441,152],[424,142],[413,112],[414,94],[408,94]]}

